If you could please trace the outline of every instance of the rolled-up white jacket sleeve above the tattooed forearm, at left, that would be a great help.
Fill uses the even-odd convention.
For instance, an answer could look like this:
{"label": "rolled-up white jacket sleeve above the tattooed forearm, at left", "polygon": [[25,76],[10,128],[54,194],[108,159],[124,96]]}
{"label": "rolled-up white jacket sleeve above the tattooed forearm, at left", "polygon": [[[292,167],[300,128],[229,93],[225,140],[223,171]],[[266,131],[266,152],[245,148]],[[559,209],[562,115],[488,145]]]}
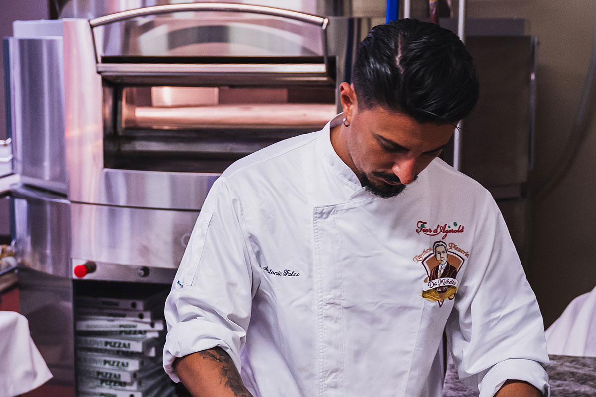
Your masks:
{"label": "rolled-up white jacket sleeve above the tattooed forearm, at left", "polygon": [[229,182],[213,184],[166,299],[163,366],[173,371],[178,357],[219,346],[240,371],[255,283],[243,208]]}

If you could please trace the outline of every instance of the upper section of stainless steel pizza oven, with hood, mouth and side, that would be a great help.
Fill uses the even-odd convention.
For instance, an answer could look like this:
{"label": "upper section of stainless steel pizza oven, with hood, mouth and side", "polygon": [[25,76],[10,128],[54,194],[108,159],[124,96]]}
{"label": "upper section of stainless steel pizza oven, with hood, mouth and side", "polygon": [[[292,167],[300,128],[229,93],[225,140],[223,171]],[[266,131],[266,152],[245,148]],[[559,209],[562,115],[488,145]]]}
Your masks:
{"label": "upper section of stainless steel pizza oven, with hood, mouth and side", "polygon": [[[23,176],[73,201],[199,210],[231,162],[336,114],[341,70],[329,53],[329,26],[297,11],[207,3],[17,22],[9,45],[15,69],[27,70],[35,45],[54,58],[47,99],[56,120],[47,143],[66,157],[58,180]],[[19,102],[29,87],[18,83],[29,76],[14,77]],[[16,106],[23,123],[49,117]],[[27,168],[29,158],[22,160]],[[145,193],[155,186],[178,198]]]}

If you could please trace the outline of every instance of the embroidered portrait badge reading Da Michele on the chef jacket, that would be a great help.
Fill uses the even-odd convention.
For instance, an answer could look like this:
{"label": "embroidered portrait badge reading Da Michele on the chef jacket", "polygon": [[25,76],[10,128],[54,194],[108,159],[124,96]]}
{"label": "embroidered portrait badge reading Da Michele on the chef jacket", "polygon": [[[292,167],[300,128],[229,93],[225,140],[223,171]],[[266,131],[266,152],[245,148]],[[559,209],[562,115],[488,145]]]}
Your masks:
{"label": "embroidered portrait badge reading Da Michele on the chef jacket", "polygon": [[458,289],[457,273],[464,264],[464,258],[457,252],[449,251],[454,243],[436,241],[432,251],[423,260],[427,277],[422,283],[422,297],[437,302],[439,307],[445,299],[454,299]]}

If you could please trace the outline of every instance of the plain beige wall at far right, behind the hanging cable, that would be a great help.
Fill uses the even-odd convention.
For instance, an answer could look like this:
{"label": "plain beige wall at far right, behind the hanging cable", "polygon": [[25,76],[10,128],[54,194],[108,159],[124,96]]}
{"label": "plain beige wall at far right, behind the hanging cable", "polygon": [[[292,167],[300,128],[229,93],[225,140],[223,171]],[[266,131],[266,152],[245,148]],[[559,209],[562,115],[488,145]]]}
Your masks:
{"label": "plain beige wall at far right, behind the hanging cable", "polygon": [[[538,37],[538,104],[533,192],[552,176],[569,137],[592,46],[594,2],[586,0],[470,0],[468,17],[527,20]],[[570,172],[541,201],[533,199],[532,257],[528,278],[547,326],[577,295],[596,285],[591,258],[596,237],[595,107],[588,137]]]}

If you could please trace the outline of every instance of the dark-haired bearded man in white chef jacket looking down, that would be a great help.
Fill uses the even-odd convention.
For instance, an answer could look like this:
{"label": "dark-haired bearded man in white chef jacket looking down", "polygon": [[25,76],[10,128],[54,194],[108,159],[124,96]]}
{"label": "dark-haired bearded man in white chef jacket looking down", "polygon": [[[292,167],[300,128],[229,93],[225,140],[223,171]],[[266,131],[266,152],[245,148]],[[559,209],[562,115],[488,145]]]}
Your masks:
{"label": "dark-haired bearded man in white chef jacket looking down", "polygon": [[[481,397],[548,393],[541,314],[495,202],[436,158],[477,100],[465,46],[377,26],[353,76],[324,129],[216,180],[166,301],[167,373],[195,396],[438,397],[445,331]],[[437,235],[467,254],[455,298],[430,301],[416,258]]]}

